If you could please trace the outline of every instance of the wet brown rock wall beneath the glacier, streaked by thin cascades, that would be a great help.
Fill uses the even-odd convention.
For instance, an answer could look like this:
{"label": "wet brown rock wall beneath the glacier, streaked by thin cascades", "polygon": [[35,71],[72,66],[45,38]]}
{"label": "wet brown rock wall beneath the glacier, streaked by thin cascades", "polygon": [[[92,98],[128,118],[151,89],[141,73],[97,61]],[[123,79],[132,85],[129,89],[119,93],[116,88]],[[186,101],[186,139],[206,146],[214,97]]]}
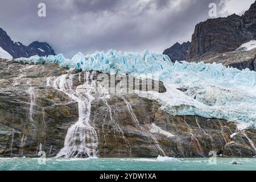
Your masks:
{"label": "wet brown rock wall beneath the glacier, streaked by thin cascades", "polygon": [[[36,157],[39,151],[56,156],[68,129],[79,119],[79,103],[49,82],[65,75],[68,81],[61,84],[86,91],[84,82],[102,81],[98,72],[86,74],[53,64],[0,59],[0,156]],[[121,81],[110,88],[120,88]],[[156,85],[159,92],[166,92],[162,82]],[[97,133],[100,157],[203,157],[210,151],[229,157],[256,154],[254,127],[238,130],[236,123],[224,119],[170,115],[154,100],[122,93],[92,92],[88,122]]]}

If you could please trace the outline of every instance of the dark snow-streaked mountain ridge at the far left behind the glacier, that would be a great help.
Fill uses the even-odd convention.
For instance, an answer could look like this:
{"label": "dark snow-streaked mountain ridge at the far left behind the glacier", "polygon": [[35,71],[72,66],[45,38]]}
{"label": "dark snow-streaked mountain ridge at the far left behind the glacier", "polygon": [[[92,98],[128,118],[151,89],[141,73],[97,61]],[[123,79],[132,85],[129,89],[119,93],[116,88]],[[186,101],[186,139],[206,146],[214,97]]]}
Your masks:
{"label": "dark snow-streaked mountain ridge at the far left behind the glacier", "polygon": [[10,53],[13,58],[55,55],[52,47],[46,42],[36,41],[28,46],[24,46],[20,42],[14,43],[2,28],[0,28],[0,47]]}

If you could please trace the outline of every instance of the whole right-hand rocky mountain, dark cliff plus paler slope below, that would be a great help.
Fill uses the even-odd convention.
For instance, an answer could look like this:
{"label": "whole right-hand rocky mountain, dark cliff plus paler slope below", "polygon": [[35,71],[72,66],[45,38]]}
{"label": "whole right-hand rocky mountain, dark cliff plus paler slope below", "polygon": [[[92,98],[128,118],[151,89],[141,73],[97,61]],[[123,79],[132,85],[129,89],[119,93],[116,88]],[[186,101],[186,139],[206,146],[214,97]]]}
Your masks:
{"label": "whole right-hand rocky mountain, dark cliff plus paler slope below", "polygon": [[238,69],[254,70],[251,52],[237,52],[243,43],[256,39],[256,2],[244,15],[208,19],[196,25],[188,51],[189,61],[222,63]]}

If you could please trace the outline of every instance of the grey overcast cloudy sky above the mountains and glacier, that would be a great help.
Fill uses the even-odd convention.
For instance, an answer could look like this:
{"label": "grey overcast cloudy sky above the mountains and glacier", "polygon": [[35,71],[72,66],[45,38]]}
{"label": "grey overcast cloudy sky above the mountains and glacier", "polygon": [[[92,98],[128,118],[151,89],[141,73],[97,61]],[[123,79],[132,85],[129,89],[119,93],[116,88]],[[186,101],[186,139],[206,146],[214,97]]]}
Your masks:
{"label": "grey overcast cloudy sky above the mountains and glacier", "polygon": [[[209,17],[242,15],[255,0],[1,0],[0,27],[15,42],[48,42],[56,53],[72,57],[94,51],[162,53],[187,42],[195,25]],[[38,4],[46,3],[46,17]]]}

